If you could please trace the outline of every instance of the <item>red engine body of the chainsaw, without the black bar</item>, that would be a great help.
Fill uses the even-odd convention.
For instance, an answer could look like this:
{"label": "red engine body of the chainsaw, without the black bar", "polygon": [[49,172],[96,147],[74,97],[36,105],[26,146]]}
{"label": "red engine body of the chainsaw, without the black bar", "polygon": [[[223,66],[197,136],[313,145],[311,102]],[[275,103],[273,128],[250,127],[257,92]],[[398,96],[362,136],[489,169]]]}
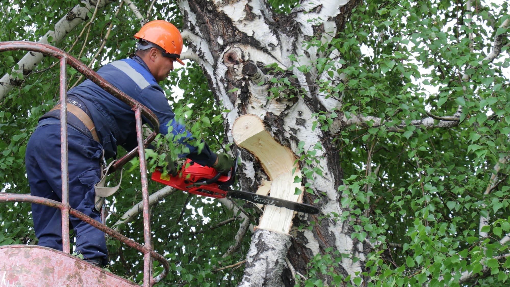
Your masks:
{"label": "red engine body of the chainsaw, without the black bar", "polygon": [[227,192],[221,189],[219,184],[229,182],[232,174],[231,171],[226,176],[220,175],[216,182],[207,184],[205,181],[218,176],[218,172],[209,166],[203,166],[187,159],[177,176],[163,174],[161,169],[157,169],[152,173],[151,179],[191,194],[224,198]]}

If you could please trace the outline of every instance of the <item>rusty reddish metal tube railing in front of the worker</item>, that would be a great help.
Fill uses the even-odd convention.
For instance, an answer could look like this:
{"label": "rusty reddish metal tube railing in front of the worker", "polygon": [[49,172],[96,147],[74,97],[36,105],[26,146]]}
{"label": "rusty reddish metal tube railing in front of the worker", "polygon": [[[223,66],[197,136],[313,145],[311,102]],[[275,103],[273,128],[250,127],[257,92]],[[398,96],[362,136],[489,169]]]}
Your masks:
{"label": "rusty reddish metal tube railing in front of the worker", "polygon": [[[149,221],[149,195],[148,195],[148,182],[147,182],[147,165],[145,162],[145,147],[149,142],[154,140],[157,133],[159,133],[159,121],[158,118],[152,111],[147,107],[135,101],[129,95],[125,94],[117,87],[110,84],[103,77],[99,76],[95,71],[90,69],[88,66],[67,54],[66,52],[54,47],[52,45],[29,42],[29,41],[9,41],[0,42],[0,52],[25,50],[42,53],[47,56],[55,57],[60,60],[60,124],[61,124],[61,156],[62,156],[62,202],[31,196],[28,194],[9,194],[0,193],[0,202],[30,202],[36,204],[43,204],[51,207],[55,207],[61,210],[62,213],[62,250],[70,253],[69,244],[69,214],[73,217],[79,218],[80,220],[87,222],[95,228],[104,231],[113,238],[123,242],[129,247],[135,248],[136,250],[144,254],[144,265],[143,265],[143,286],[152,286],[157,282],[161,281],[166,277],[170,270],[170,266],[166,259],[152,250],[151,237],[150,237],[150,221]],[[69,64],[71,67],[78,70],[81,74],[87,77],[89,80],[103,88],[117,99],[129,105],[135,112],[136,119],[136,134],[138,140],[138,147],[127,153],[121,159],[116,161],[110,172],[118,170],[122,165],[132,159],[137,153],[140,158],[140,173],[142,181],[142,200],[143,200],[143,234],[144,234],[144,245],[141,245],[132,239],[120,234],[119,232],[107,227],[100,222],[93,220],[86,216],[84,213],[72,209],[69,205],[69,175],[68,175],[68,153],[67,153],[67,89],[66,89],[66,65]],[[142,132],[142,115],[152,124],[154,132],[152,132],[145,140],[143,139]],[[155,258],[163,265],[163,272],[158,276],[152,278],[152,262],[151,258]]]}

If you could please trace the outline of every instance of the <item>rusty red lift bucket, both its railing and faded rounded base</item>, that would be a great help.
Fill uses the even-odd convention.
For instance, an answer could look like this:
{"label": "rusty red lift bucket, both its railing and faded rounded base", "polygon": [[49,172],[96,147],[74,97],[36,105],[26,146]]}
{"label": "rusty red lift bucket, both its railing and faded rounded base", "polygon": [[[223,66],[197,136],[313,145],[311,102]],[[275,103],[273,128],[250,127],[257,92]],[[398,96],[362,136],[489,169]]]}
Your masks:
{"label": "rusty red lift bucket, both its railing and faded rounded base", "polygon": [[[123,164],[131,160],[135,155],[145,159],[145,150],[148,143],[151,142],[156,134],[159,133],[159,121],[152,111],[147,107],[135,101],[129,95],[123,93],[117,87],[99,76],[88,66],[75,59],[66,52],[52,45],[29,42],[29,41],[10,41],[0,42],[0,52],[26,50],[39,52],[47,56],[52,56],[60,60],[60,102],[66,103],[66,64],[69,64],[87,79],[91,80],[99,87],[114,95],[117,99],[129,105],[135,111],[135,120],[137,126],[138,147],[127,153],[121,159],[117,160],[110,169],[110,173],[120,169]],[[114,231],[113,229],[101,224],[98,221],[86,216],[82,212],[72,209],[69,206],[69,186],[68,186],[68,154],[67,154],[67,106],[61,105],[61,156],[62,156],[62,202],[49,200],[42,197],[31,196],[27,194],[8,194],[0,193],[1,202],[30,202],[36,204],[44,204],[47,206],[59,208],[62,212],[62,247],[64,252],[69,253],[69,215],[81,219],[84,222],[104,231],[113,238],[123,242],[125,245],[135,248],[144,254],[143,269],[143,285],[152,286],[166,277],[170,270],[170,266],[166,259],[160,254],[152,250],[151,232],[150,232],[150,216],[148,204],[148,183],[147,183],[147,166],[145,160],[140,161],[140,172],[142,180],[142,199],[143,199],[143,229],[145,245],[141,245],[130,238]],[[154,132],[152,132],[145,140],[142,132],[142,115],[148,119]],[[105,213],[102,214],[105,216]],[[15,286],[39,286],[41,282],[48,282],[44,285],[79,285],[84,286],[130,286],[133,282],[125,280],[121,277],[108,273],[100,268],[93,267],[83,260],[73,257],[64,252],[44,247],[34,247],[25,245],[12,245],[0,247],[0,286],[14,284]],[[60,255],[57,255],[60,254]],[[65,255],[65,256],[62,256]],[[22,256],[21,256],[22,255]],[[67,256],[67,257],[66,257]],[[13,259],[15,257],[15,259]],[[163,265],[163,272],[158,276],[151,278],[151,259],[155,258]],[[49,261],[48,261],[49,260]],[[41,264],[44,263],[44,264]],[[22,266],[22,267],[20,267]],[[3,272],[3,274],[2,274]],[[4,277],[2,277],[4,276]],[[7,277],[6,277],[7,276]],[[7,279],[6,279],[7,278]],[[44,279],[41,279],[44,278]],[[4,281],[2,280],[8,280]],[[97,281],[97,280],[105,281]],[[9,281],[10,280],[10,281]],[[46,280],[46,281],[42,281]],[[60,281],[58,281],[60,280]],[[83,281],[92,280],[92,281]],[[96,280],[96,281],[93,281]],[[83,283],[81,283],[83,281]],[[71,283],[71,284],[69,284]],[[2,285],[4,284],[4,285]]]}

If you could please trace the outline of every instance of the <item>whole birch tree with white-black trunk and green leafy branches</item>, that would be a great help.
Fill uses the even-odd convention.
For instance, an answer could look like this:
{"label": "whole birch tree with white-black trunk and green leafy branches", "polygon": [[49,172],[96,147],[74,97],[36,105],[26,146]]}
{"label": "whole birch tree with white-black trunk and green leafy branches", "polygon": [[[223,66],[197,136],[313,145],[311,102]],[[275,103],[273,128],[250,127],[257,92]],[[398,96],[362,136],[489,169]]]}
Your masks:
{"label": "whole birch tree with white-black trunk and green leafy branches", "polygon": [[[166,284],[506,282],[507,3],[127,4],[98,12],[91,25],[105,31],[91,29],[91,36],[80,36],[83,44],[70,51],[97,67],[101,61],[87,57],[113,60],[133,52],[132,31],[140,21],[154,17],[177,23],[188,47],[183,56],[190,61],[164,83],[176,114],[214,149],[240,152],[240,189],[272,189],[272,195],[279,189],[268,183],[274,176],[267,159],[242,148],[232,134],[240,116],[258,117],[296,158],[288,186],[297,188],[289,196],[321,210],[317,216],[291,214],[288,231],[258,229],[267,208],[263,213],[250,203],[201,200],[153,184],[155,249],[171,261]],[[117,9],[121,12],[114,14]],[[108,52],[97,53],[108,27],[116,40],[104,41]],[[64,39],[61,45],[73,41]],[[50,64],[45,61],[40,69]],[[3,101],[7,124],[0,130],[7,152],[0,164],[10,178],[7,190],[27,192],[24,177],[15,171],[22,170],[21,143],[38,115],[55,103],[53,94],[40,94],[49,82],[50,77],[29,75]],[[174,85],[184,90],[183,99],[172,97]],[[27,97],[43,105],[31,108],[21,100]],[[16,115],[23,110],[30,110],[28,119]],[[16,128],[20,125],[28,128]],[[149,155],[154,168],[161,157]],[[136,170],[136,160],[132,164],[126,169]],[[114,207],[108,220],[135,239],[142,236],[138,185],[139,176],[126,173],[123,192],[110,199]],[[0,213],[8,234],[0,244],[34,241],[30,223],[15,217],[29,217],[28,210],[9,205]],[[24,228],[9,233],[6,222],[11,221]],[[282,241],[269,239],[275,237]],[[113,270],[137,280],[136,252],[116,242],[109,248]]]}

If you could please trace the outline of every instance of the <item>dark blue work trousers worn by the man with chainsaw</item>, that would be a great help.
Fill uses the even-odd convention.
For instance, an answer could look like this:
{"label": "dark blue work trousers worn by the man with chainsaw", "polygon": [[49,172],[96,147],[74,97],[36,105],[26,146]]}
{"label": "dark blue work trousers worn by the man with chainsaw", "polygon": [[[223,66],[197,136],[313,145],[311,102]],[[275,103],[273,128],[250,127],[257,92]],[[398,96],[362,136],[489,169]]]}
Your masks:
{"label": "dark blue work trousers worn by the man with chainsaw", "polygon": [[[99,142],[68,126],[69,204],[101,222],[94,209],[94,184],[99,181],[102,147]],[[25,155],[30,193],[62,201],[60,124],[39,125],[29,139]],[[62,251],[60,209],[32,204],[32,217],[38,245]],[[107,262],[105,233],[70,216],[76,236],[75,252],[84,258]]]}

